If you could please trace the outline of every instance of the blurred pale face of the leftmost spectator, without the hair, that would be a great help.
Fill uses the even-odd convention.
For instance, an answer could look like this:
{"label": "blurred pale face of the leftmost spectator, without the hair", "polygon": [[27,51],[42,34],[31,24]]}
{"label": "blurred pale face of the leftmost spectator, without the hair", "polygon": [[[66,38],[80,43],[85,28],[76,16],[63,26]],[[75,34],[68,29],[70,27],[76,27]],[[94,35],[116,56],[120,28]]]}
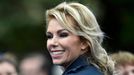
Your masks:
{"label": "blurred pale face of the leftmost spectator, without the hair", "polygon": [[17,72],[12,64],[2,62],[0,63],[0,75],[17,75]]}

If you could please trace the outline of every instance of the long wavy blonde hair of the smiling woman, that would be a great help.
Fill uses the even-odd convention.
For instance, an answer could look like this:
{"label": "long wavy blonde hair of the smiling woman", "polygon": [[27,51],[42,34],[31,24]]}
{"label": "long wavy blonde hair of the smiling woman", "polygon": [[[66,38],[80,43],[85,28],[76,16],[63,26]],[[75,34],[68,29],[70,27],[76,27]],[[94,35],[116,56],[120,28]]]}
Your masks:
{"label": "long wavy blonde hair of the smiling woman", "polygon": [[[94,14],[86,6],[75,2],[63,2],[55,8],[46,11],[47,24],[53,18],[70,32],[85,39],[89,46],[88,50],[91,53],[88,54],[90,63],[97,66],[105,75],[113,71],[114,63],[101,46],[104,34]],[[72,25],[72,22],[75,24],[75,27]]]}

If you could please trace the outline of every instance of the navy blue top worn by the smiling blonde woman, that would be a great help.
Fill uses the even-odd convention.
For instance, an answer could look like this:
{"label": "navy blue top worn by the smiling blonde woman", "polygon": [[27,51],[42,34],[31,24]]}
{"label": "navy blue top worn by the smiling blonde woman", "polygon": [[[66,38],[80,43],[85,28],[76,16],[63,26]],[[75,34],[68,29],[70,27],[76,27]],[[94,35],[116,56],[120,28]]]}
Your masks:
{"label": "navy blue top worn by the smiling blonde woman", "polygon": [[103,75],[102,72],[92,64],[89,64],[83,56],[77,58],[62,75]]}

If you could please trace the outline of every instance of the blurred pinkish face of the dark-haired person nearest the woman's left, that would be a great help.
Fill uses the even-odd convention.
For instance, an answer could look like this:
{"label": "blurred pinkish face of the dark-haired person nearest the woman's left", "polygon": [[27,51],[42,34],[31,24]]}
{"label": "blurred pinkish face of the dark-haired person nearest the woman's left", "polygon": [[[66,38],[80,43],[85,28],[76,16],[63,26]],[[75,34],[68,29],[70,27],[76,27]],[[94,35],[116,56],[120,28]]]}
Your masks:
{"label": "blurred pinkish face of the dark-haired person nearest the woman's left", "polygon": [[47,72],[41,70],[42,61],[38,58],[29,58],[23,60],[20,65],[22,75],[48,75]]}

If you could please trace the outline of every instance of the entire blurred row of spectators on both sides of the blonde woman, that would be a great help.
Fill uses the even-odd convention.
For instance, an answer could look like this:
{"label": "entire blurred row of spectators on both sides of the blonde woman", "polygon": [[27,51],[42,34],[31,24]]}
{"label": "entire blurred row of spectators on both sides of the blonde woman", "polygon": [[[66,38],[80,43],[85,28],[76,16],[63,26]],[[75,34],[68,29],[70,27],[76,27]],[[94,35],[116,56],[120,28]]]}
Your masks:
{"label": "entire blurred row of spectators on both sides of the blonde woman", "polygon": [[[128,51],[111,53],[115,62],[114,75],[134,75],[134,54]],[[62,75],[61,66],[53,65],[40,52],[25,55],[20,61],[12,53],[0,54],[0,75]]]}

